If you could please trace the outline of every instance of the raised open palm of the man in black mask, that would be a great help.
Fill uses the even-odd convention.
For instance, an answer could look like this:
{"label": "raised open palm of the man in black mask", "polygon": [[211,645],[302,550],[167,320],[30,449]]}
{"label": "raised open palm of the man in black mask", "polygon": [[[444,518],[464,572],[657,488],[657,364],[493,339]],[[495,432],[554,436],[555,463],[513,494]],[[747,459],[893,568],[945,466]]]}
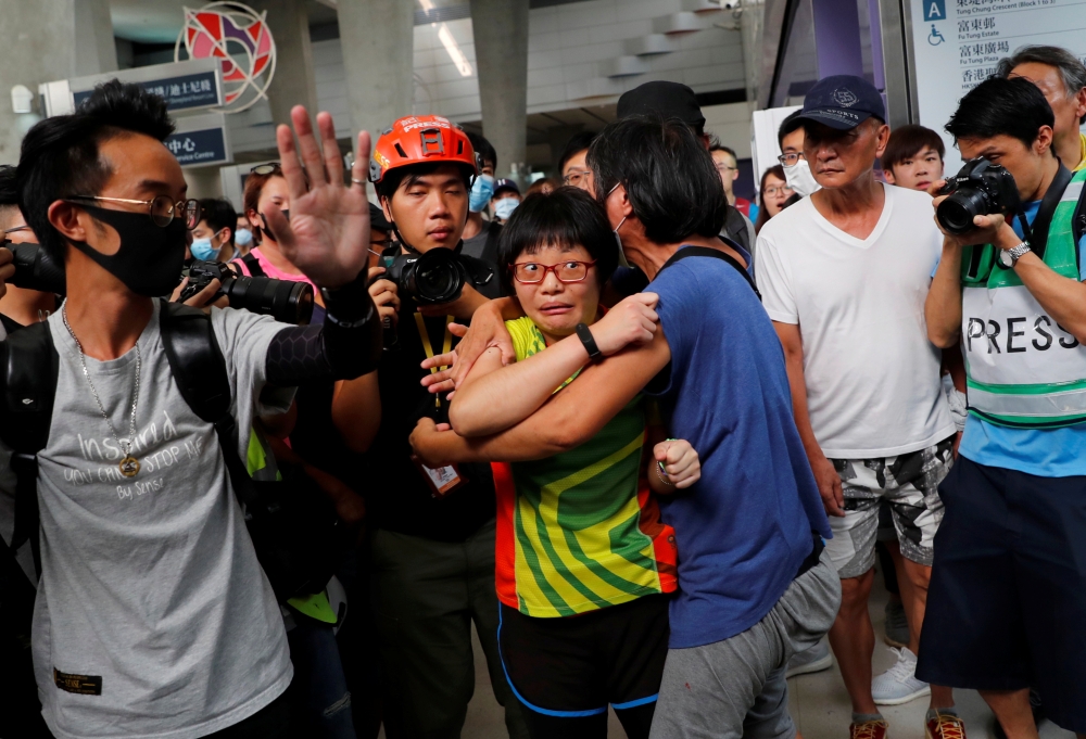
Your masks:
{"label": "raised open palm of the man in black mask", "polygon": [[[321,288],[339,288],[358,276],[367,264],[369,205],[366,166],[369,133],[358,133],[358,152],[351,168],[351,187],[343,184],[343,160],[336,145],[336,126],[328,113],[317,114],[321,145],[317,145],[308,112],[295,105],[290,112],[298,149],[288,126],[276,129],[279,161],[290,191],[290,220],[274,205],[265,217],[291,264]],[[321,150],[323,148],[323,150]],[[306,188],[305,178],[310,184]]]}

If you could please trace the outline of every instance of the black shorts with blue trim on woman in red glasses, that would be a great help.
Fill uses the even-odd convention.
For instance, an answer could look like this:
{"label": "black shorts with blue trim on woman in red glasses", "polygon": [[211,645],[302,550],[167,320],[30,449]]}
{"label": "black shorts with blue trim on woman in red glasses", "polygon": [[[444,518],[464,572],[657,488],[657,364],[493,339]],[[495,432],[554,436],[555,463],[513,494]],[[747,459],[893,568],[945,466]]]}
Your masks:
{"label": "black shorts with blue trim on woman in red glasses", "polygon": [[538,619],[504,603],[497,639],[514,693],[554,717],[655,704],[668,655],[668,596]]}

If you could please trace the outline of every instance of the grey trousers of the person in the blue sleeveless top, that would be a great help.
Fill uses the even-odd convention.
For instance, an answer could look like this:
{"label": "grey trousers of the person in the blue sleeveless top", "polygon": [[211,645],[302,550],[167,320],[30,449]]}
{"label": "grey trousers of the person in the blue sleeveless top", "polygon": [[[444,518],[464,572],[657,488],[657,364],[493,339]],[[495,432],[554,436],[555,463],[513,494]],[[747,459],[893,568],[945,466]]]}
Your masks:
{"label": "grey trousers of the person in the blue sleeveless top", "polygon": [[784,672],[822,638],[841,607],[841,579],[823,551],[766,616],[735,636],[671,649],[651,739],[792,739]]}

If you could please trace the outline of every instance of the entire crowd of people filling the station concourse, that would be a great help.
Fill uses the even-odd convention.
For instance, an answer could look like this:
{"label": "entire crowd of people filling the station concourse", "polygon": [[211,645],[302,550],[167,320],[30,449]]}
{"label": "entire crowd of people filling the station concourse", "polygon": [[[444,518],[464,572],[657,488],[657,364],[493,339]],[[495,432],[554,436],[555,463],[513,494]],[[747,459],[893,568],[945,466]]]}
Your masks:
{"label": "entire crowd of people filling the station concourse", "polygon": [[948,177],[826,77],[750,202],[673,82],[523,194],[298,106],[238,214],[100,86],[0,169],[0,735],[458,737],[475,632],[514,739],[792,739],[834,657],[850,739],[1086,736],[1084,122],[1020,49]]}

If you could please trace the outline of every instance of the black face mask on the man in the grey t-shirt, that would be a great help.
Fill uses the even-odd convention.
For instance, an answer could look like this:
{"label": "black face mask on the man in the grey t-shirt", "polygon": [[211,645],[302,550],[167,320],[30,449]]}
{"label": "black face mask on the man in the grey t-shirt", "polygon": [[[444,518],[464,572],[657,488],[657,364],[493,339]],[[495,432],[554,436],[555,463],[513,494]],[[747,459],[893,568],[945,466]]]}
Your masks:
{"label": "black face mask on the man in the grey t-shirt", "polygon": [[165,228],[146,213],[109,211],[80,205],[96,219],[112,226],[121,237],[116,254],[102,254],[81,241],[72,244],[137,295],[168,295],[177,286],[185,263],[185,219],[174,218]]}

